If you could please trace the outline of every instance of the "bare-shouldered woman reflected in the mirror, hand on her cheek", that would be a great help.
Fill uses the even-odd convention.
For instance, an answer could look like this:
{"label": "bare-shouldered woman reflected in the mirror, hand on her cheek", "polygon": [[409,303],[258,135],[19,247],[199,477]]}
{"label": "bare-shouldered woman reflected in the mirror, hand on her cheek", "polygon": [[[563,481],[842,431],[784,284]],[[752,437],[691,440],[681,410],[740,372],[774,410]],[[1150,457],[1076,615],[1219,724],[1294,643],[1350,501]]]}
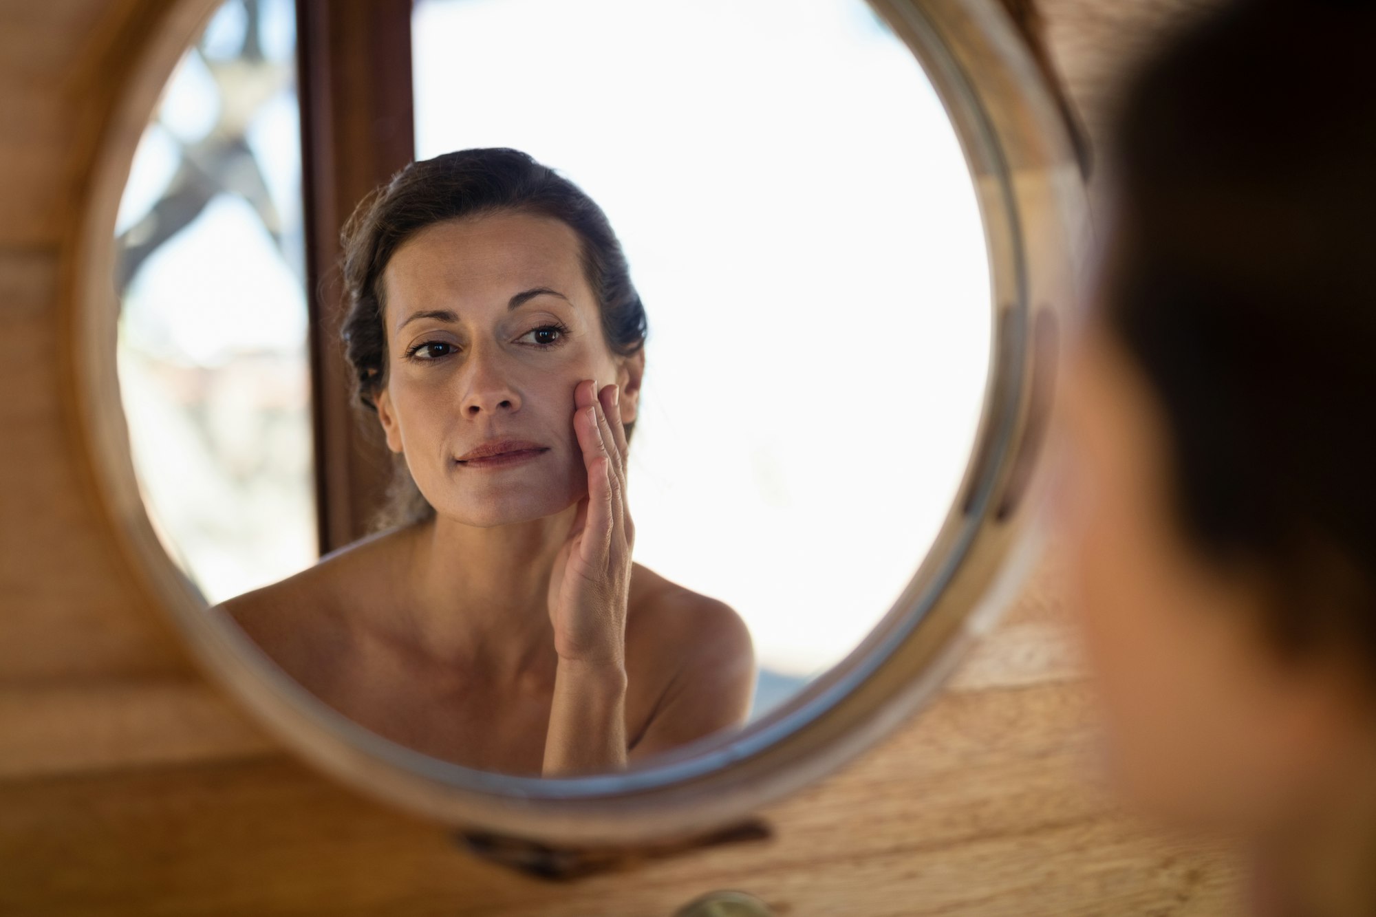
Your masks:
{"label": "bare-shouldered woman reflected in the mirror, hand on her cheek", "polygon": [[461,150],[374,191],[345,249],[385,527],[223,607],[351,719],[472,767],[619,770],[743,723],[740,618],[632,562],[645,315],[597,205]]}

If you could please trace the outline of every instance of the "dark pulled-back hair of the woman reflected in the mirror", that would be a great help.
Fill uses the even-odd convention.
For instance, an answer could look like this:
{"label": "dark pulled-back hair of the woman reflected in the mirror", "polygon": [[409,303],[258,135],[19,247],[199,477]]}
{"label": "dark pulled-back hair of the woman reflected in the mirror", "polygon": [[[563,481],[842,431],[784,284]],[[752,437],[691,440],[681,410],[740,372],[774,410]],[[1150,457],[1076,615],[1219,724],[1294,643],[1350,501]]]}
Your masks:
{"label": "dark pulled-back hair of the woman reflected in the mirror", "polygon": [[[645,308],[630,282],[621,242],[605,213],[577,185],[509,147],[444,153],[411,162],[355,208],[344,226],[344,355],[354,372],[354,403],[361,423],[377,435],[377,394],[387,386],[387,328],[383,322],[383,271],[400,245],[433,223],[515,211],[549,216],[578,234],[583,275],[601,310],[603,335],[612,352],[629,357],[644,347]],[[634,424],[626,425],[629,436]],[[387,504],[373,530],[435,515],[406,468],[394,456]]]}

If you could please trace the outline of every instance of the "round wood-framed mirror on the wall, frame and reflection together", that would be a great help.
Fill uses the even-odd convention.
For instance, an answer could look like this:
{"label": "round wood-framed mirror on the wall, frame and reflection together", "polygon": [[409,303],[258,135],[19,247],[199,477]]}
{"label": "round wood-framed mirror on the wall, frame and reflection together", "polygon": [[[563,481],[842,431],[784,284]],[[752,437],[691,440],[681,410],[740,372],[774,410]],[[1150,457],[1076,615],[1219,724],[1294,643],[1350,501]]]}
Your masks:
{"label": "round wood-framed mirror on the wall, frame and reflection together", "polygon": [[[1082,231],[1002,10],[418,0],[417,162],[333,304],[297,22],[169,12],[87,220],[87,431],[215,677],[373,793],[564,841],[724,822],[930,693],[1035,540]],[[345,460],[388,490],[330,544]]]}

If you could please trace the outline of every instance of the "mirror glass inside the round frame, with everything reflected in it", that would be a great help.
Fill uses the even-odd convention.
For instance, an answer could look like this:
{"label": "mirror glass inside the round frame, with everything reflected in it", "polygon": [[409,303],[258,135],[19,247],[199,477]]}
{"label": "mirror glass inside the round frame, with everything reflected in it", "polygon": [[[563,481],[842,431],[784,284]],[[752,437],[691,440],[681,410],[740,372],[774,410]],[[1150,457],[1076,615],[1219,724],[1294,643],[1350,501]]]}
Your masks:
{"label": "mirror glass inside the round frame, with everything reflected in it", "polygon": [[974,187],[903,43],[861,0],[417,3],[417,161],[326,322],[392,487],[321,556],[293,15],[220,7],[117,226],[136,472],[208,604],[509,774],[636,766],[845,657],[951,508],[989,359]]}

